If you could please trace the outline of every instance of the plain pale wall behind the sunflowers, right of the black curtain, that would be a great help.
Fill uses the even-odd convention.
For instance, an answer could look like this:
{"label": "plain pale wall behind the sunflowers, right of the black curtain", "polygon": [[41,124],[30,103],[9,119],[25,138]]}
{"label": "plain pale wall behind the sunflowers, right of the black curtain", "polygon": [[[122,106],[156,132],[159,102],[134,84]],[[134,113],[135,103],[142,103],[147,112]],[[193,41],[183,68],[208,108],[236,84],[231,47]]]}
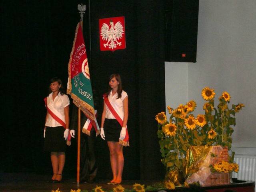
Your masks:
{"label": "plain pale wall behind the sunflowers, right of the black curtain", "polygon": [[[243,103],[236,113],[232,150],[256,155],[256,0],[200,0],[196,63],[165,63],[166,106],[195,100],[203,113],[201,91],[208,86]],[[166,111],[166,114],[168,112]]]}

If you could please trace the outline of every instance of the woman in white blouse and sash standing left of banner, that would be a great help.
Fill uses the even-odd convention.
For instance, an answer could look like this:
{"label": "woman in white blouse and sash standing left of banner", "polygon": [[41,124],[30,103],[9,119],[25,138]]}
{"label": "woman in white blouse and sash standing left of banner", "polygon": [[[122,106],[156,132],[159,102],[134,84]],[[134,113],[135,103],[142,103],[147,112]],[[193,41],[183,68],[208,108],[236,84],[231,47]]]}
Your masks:
{"label": "woman in white blouse and sash standing left of banner", "polygon": [[53,176],[49,182],[59,183],[65,164],[66,140],[69,132],[69,98],[64,94],[60,78],[50,80],[50,94],[45,98],[47,114],[44,126],[44,150],[51,152]]}

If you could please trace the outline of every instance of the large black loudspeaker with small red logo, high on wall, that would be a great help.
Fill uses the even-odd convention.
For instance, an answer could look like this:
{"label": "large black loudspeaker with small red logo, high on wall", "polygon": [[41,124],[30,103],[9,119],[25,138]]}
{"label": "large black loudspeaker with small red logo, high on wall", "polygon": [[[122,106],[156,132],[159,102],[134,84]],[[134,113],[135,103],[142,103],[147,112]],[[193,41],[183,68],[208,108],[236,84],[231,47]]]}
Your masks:
{"label": "large black loudspeaker with small red logo, high on wall", "polygon": [[199,0],[165,0],[165,61],[196,62]]}

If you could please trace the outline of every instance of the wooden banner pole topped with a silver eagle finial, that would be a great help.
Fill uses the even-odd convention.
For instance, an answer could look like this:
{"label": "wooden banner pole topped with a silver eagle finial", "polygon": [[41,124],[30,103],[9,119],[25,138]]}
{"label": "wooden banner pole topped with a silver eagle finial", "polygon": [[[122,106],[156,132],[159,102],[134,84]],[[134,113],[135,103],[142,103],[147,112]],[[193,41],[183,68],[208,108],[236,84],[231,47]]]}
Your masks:
{"label": "wooden banner pole topped with a silver eagle finial", "polygon": [[[82,30],[83,30],[83,17],[84,17],[84,12],[86,11],[86,5],[83,4],[78,4],[78,11],[80,13],[80,23],[82,26]],[[78,107],[78,124],[77,124],[77,167],[76,167],[76,182],[77,182],[77,186],[79,186],[79,181],[80,181],[80,140],[81,140],[81,110]]]}

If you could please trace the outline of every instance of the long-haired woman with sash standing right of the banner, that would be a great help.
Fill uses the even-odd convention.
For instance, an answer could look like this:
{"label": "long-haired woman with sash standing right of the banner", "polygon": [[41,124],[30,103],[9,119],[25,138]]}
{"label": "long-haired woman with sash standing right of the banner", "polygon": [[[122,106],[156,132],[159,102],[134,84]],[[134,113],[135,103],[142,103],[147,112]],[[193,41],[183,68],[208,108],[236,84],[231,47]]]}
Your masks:
{"label": "long-haired woman with sash standing right of the banner", "polygon": [[101,119],[100,136],[108,143],[113,179],[109,185],[122,182],[124,168],[123,145],[129,145],[127,131],[128,95],[122,90],[119,74],[112,74],[108,92],[104,94],[104,106]]}

